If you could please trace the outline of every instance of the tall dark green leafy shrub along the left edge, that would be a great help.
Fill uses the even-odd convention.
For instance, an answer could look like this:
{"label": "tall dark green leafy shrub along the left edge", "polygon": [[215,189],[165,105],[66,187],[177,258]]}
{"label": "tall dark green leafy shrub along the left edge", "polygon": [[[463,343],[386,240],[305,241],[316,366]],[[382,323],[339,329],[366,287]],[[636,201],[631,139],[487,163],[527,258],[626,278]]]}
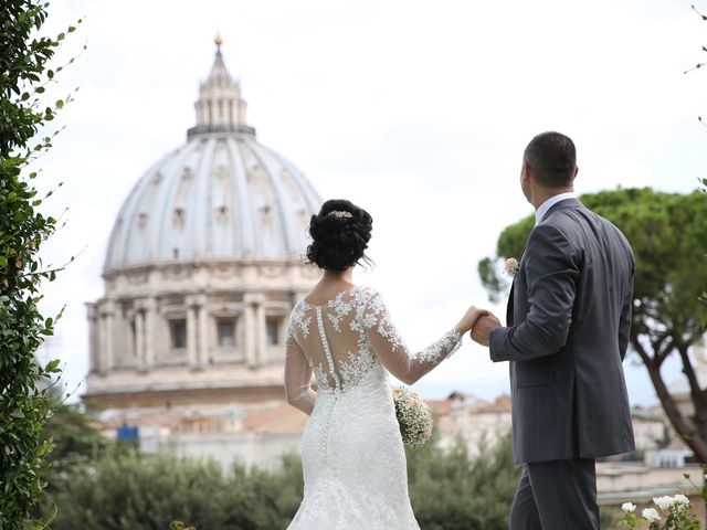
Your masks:
{"label": "tall dark green leafy shrub along the left edge", "polygon": [[23,524],[44,487],[40,469],[52,444],[42,427],[55,406],[46,383],[60,372],[57,360],[39,365],[34,357],[54,329],[55,318],[44,318],[38,303],[42,282],[53,280],[57,269],[43,268],[38,253],[57,221],[39,212],[36,172],[29,165],[56,132],[39,141],[34,136],[71,100],[41,102],[61,70],[50,62],[65,38],[36,35],[46,6],[0,4],[0,528],[9,530]]}

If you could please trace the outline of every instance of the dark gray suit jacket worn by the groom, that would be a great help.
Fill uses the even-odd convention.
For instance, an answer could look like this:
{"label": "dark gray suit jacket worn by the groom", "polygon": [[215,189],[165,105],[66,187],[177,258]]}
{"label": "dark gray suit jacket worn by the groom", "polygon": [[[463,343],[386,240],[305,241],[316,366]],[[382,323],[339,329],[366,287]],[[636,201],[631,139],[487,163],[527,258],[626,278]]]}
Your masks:
{"label": "dark gray suit jacket worn by the groom", "polygon": [[622,361],[634,259],[624,235],[576,199],[528,236],[490,357],[510,361],[517,463],[635,448]]}

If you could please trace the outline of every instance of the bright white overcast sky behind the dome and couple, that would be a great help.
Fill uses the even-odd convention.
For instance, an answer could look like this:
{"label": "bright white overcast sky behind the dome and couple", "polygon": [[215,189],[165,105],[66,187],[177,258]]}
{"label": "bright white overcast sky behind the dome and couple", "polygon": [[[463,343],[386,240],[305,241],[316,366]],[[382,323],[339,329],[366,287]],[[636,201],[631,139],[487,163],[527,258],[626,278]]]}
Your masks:
{"label": "bright white overcast sky behind the dome and couple", "polygon": [[[376,267],[357,280],[382,290],[413,348],[469,304],[503,312],[476,264],[531,213],[517,177],[535,134],[574,139],[580,193],[688,192],[707,168],[707,74],[683,74],[705,59],[707,23],[689,0],[53,0],[46,29],[82,17],[62,55],[87,49],[50,97],[80,91],[38,163],[43,189],[64,182],[48,212],[68,206],[44,255],[60,264],[81,252],[44,303],[67,305],[43,354],[66,362],[72,388],[87,371],[84,304],[102,295],[114,219],[140,174],[184,141],[217,33],[258,139],[324,198],[373,215]],[[468,342],[416,385],[424,396],[507,391],[507,367]],[[654,401],[644,371],[626,364],[635,403]]]}

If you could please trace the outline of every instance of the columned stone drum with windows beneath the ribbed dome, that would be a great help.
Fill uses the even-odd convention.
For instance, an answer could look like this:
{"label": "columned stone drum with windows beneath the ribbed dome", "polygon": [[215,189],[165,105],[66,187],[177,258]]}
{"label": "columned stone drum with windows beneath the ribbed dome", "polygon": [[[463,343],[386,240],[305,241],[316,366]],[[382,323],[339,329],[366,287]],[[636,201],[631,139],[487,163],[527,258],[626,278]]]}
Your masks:
{"label": "columned stone drum with windows beneath the ribbed dome", "polygon": [[287,316],[316,274],[300,263],[112,273],[88,304],[86,398],[253,386],[282,398]]}

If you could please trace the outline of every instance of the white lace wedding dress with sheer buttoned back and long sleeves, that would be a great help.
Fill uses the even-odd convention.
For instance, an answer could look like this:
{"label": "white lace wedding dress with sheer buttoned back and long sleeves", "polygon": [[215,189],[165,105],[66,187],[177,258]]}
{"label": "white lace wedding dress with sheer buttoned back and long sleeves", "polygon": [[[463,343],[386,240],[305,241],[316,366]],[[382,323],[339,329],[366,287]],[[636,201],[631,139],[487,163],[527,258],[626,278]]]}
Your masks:
{"label": "white lace wedding dress with sheer buttoned back and long sleeves", "polygon": [[321,305],[297,304],[285,388],[288,402],[310,417],[302,437],[304,500],[289,530],[420,528],[388,371],[412,384],[460,344],[451,330],[410,353],[370,288],[352,287]]}

